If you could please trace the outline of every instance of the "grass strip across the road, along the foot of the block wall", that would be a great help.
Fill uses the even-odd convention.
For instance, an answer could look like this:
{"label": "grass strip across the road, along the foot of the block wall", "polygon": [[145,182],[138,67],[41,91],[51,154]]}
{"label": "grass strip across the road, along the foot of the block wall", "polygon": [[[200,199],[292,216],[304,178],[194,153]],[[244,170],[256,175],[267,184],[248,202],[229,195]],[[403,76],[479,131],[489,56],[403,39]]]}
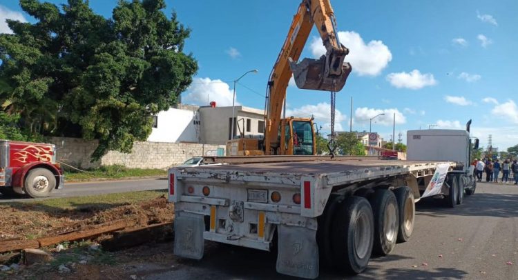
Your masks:
{"label": "grass strip across the road, along the foot of the block wall", "polygon": [[124,166],[101,166],[99,168],[80,172],[65,168],[66,181],[82,181],[88,179],[122,179],[127,177],[166,176],[167,170],[126,168]]}

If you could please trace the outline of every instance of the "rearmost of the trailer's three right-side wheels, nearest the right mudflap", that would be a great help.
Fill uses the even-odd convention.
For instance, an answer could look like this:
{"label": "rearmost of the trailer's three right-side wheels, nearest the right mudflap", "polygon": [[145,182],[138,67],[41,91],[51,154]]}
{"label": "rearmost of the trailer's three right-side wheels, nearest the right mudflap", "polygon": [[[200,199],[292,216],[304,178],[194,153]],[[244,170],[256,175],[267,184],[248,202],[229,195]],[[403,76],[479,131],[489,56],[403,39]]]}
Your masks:
{"label": "rearmost of the trailer's three right-side wheels, nearest the right mudflap", "polygon": [[358,274],[367,268],[372,253],[372,208],[363,197],[347,197],[336,210],[331,232],[334,266]]}

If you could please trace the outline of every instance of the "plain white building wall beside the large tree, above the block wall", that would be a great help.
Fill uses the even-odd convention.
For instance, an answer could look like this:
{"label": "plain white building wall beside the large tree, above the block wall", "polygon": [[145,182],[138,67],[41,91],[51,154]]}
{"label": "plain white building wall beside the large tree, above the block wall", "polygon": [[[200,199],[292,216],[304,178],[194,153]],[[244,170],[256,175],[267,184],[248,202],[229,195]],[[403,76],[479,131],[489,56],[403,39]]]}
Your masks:
{"label": "plain white building wall beside the large tree, above the block wall", "polygon": [[198,112],[170,108],[157,114],[157,127],[153,128],[151,142],[200,142]]}

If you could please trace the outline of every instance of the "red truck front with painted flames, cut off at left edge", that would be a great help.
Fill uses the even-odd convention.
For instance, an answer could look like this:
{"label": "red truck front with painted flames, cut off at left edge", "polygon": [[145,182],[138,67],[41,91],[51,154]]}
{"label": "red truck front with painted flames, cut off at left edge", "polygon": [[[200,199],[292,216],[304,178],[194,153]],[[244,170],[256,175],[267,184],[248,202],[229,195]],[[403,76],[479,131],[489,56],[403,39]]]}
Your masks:
{"label": "red truck front with painted flames, cut off at left edge", "polygon": [[0,193],[39,198],[63,186],[55,145],[0,140]]}

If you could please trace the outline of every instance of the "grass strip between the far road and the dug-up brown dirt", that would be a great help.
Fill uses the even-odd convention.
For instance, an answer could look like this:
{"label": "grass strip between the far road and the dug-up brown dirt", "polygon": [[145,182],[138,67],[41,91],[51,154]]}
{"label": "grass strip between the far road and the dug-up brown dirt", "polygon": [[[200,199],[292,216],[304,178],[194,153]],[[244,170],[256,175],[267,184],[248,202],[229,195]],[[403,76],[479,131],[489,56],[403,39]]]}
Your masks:
{"label": "grass strip between the far road and the dug-up brown dirt", "polygon": [[[164,183],[164,188],[165,188]],[[62,210],[81,210],[86,208],[96,208],[99,210],[113,208],[116,206],[148,201],[167,195],[164,190],[144,190],[139,192],[120,192],[115,194],[97,194],[88,197],[64,197],[59,199],[44,199],[39,201],[17,202],[23,205],[30,205],[34,208],[52,208]]]}

